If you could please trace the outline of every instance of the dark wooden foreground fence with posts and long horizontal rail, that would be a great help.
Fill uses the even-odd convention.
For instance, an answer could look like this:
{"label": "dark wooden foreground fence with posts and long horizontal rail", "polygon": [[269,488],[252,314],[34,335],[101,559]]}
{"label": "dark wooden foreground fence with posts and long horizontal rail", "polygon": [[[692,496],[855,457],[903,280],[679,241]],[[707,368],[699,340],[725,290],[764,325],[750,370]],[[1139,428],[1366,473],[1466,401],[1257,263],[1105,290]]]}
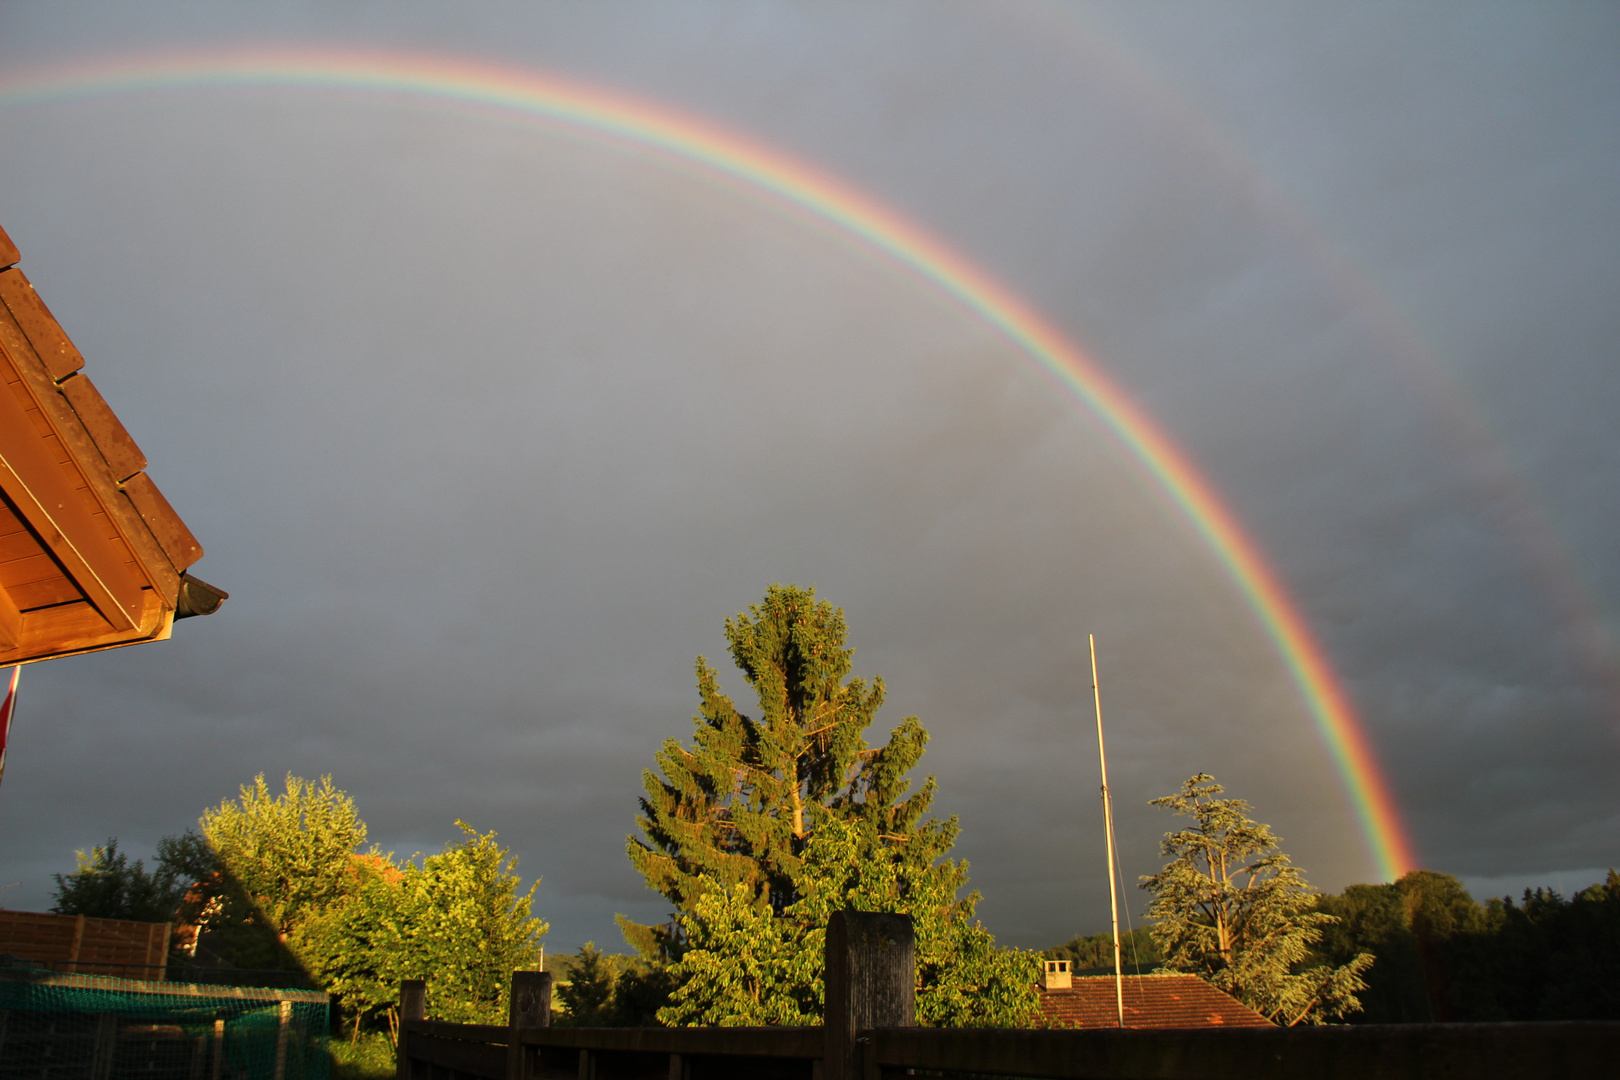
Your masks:
{"label": "dark wooden foreground fence with posts and long horizontal rail", "polygon": [[426,1020],[400,988],[399,1080],[1377,1080],[1614,1075],[1620,1023],[1315,1028],[917,1028],[910,918],[844,912],[828,926],[828,1017],[815,1028],[552,1028],[551,976],[512,976],[509,1023]]}

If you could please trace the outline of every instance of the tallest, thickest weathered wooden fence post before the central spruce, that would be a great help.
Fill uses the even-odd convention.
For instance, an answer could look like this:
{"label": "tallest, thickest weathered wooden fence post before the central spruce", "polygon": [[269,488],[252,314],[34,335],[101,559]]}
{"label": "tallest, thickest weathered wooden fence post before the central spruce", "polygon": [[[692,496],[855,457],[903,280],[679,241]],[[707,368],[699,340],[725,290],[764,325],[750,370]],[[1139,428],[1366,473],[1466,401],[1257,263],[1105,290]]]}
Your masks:
{"label": "tallest, thickest weathered wooden fence post before the central spruce", "polygon": [[834,912],[826,925],[825,1080],[860,1080],[862,1031],[909,1028],[917,1014],[910,915]]}

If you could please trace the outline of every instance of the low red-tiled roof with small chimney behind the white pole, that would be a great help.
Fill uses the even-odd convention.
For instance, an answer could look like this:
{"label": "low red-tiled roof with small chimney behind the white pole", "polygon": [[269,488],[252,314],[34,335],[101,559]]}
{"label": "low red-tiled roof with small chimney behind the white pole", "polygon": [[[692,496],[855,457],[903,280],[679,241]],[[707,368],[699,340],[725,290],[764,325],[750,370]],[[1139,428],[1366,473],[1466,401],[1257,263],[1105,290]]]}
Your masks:
{"label": "low red-tiled roof with small chimney behind the white pole", "polygon": [[[1042,1017],[1053,1027],[1116,1028],[1119,1006],[1111,975],[1087,975],[1069,989],[1040,991]],[[1197,975],[1126,975],[1128,1028],[1268,1028],[1272,1022]]]}

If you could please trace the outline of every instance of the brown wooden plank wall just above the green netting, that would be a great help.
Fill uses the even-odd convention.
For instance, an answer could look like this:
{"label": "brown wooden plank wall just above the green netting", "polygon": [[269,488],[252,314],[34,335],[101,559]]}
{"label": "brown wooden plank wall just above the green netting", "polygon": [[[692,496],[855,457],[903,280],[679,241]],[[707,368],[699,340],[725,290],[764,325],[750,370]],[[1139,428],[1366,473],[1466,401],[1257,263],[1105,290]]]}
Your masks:
{"label": "brown wooden plank wall just above the green netting", "polygon": [[0,954],[57,972],[162,980],[168,923],[0,910]]}

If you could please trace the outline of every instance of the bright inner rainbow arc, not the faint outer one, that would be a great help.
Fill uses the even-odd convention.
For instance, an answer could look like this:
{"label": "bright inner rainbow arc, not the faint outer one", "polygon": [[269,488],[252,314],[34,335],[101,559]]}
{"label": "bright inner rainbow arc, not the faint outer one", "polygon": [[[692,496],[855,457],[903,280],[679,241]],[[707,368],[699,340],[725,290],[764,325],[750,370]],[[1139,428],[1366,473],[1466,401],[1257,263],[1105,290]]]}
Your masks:
{"label": "bright inner rainbow arc, not the faint outer one", "polygon": [[697,117],[585,83],[442,57],[287,49],[115,58],[13,71],[0,78],[0,108],[222,86],[416,97],[651,151],[831,225],[954,296],[1085,405],[1209,544],[1290,670],[1379,873],[1393,881],[1418,866],[1367,733],[1259,546],[1192,461],[1095,359],[944,241],[841,180]]}

